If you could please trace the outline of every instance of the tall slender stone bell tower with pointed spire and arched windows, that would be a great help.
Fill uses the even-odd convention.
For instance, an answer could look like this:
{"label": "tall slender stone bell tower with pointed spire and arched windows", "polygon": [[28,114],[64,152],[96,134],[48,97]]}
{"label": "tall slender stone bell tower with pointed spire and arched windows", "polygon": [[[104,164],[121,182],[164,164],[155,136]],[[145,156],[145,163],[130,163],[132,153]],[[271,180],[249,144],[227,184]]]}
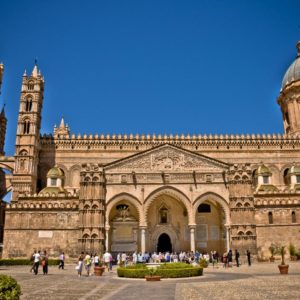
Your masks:
{"label": "tall slender stone bell tower with pointed spire and arched windows", "polygon": [[13,196],[35,193],[40,150],[44,78],[35,63],[31,75],[23,75],[15,148]]}

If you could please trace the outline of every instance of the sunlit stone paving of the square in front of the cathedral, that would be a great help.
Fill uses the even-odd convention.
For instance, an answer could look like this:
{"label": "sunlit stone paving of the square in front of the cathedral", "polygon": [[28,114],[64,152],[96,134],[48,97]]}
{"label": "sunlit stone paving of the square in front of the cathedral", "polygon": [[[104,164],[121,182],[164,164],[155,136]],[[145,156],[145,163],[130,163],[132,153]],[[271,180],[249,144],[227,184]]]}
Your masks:
{"label": "sunlit stone paving of the square in front of the cathedral", "polygon": [[277,263],[255,263],[251,267],[229,269],[210,266],[201,277],[160,282],[118,278],[115,269],[102,277],[78,278],[73,265],[67,265],[65,270],[49,267],[49,275],[35,276],[28,266],[0,267],[0,274],[17,279],[22,289],[21,299],[300,299],[300,262],[289,265],[289,275],[280,275]]}

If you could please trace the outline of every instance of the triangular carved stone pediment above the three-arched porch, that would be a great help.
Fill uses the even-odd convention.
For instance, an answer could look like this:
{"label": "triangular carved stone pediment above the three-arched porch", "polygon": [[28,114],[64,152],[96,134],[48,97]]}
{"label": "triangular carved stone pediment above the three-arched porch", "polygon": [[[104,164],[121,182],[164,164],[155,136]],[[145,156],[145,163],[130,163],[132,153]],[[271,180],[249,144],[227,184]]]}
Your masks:
{"label": "triangular carved stone pediment above the three-arched porch", "polygon": [[115,161],[104,167],[108,173],[119,172],[222,172],[229,164],[165,144]]}

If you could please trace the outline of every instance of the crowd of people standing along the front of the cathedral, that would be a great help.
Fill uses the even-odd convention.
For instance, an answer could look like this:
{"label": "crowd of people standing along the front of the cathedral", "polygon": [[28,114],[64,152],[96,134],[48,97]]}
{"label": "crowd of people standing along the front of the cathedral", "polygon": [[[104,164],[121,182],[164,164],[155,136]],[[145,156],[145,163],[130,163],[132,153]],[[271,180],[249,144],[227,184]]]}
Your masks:
{"label": "crowd of people standing along the front of the cathedral", "polygon": [[[248,266],[251,266],[251,254],[250,251],[246,251]],[[107,268],[107,271],[112,271],[113,263],[115,262],[119,266],[127,266],[130,264],[139,264],[139,263],[169,263],[169,262],[184,262],[191,265],[201,264],[201,261],[206,261],[207,264],[211,263],[213,267],[219,262],[223,263],[224,268],[232,267],[233,257],[235,259],[236,266],[239,267],[240,262],[240,253],[238,250],[235,250],[234,253],[232,250],[224,252],[223,255],[219,255],[217,251],[211,251],[210,253],[204,252],[134,252],[131,255],[122,252],[118,253],[116,259],[113,259],[111,253],[106,251],[103,256],[95,254],[89,254],[81,252],[77,259],[76,270],[78,276],[81,277],[82,270],[85,268],[87,276],[91,275],[92,266],[98,267],[100,264],[104,264]],[[31,272],[35,275],[38,274],[39,265],[42,265],[43,274],[48,274],[48,254],[47,251],[34,251],[31,256],[32,266]],[[58,269],[64,269],[65,266],[65,254],[62,252],[59,256],[59,266]]]}

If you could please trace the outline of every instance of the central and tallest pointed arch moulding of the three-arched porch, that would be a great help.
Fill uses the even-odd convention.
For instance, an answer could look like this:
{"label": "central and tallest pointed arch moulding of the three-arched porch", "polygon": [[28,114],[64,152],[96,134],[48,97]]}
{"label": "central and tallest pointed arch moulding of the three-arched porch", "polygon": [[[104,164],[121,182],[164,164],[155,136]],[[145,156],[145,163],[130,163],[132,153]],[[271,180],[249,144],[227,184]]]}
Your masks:
{"label": "central and tallest pointed arch moulding of the three-arched porch", "polygon": [[148,195],[148,197],[145,199],[145,202],[144,202],[145,221],[147,221],[147,219],[148,219],[148,210],[149,210],[151,203],[163,195],[169,195],[169,196],[173,197],[174,199],[178,200],[179,202],[181,202],[184,205],[185,209],[187,210],[189,224],[195,223],[193,214],[190,213],[191,202],[190,202],[189,198],[182,191],[180,191],[179,189],[176,189],[172,186],[160,187]]}

